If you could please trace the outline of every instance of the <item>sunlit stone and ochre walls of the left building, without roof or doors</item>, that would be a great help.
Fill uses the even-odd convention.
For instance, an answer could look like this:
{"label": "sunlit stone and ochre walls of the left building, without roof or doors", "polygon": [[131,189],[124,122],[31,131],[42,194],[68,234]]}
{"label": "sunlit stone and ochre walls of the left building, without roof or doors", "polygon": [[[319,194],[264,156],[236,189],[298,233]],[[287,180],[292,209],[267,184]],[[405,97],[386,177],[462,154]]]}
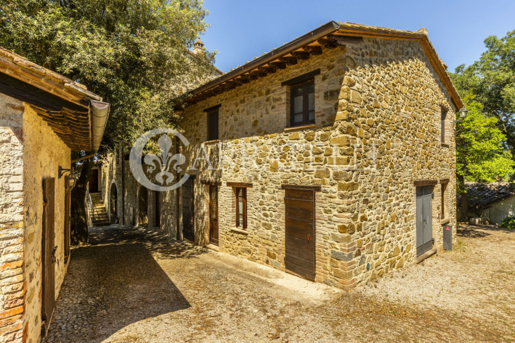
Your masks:
{"label": "sunlit stone and ochre walls of the left building, without roof or doors", "polygon": [[[29,106],[0,94],[0,342],[41,334],[42,180],[56,178],[55,295],[64,261],[64,178],[70,149]],[[22,337],[23,335],[23,337]]]}

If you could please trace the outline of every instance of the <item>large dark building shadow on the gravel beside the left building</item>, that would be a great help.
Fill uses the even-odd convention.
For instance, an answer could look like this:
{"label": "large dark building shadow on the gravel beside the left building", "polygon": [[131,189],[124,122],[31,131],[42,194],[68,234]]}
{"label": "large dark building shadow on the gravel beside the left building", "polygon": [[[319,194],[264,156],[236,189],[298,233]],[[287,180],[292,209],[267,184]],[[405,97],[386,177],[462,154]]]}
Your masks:
{"label": "large dark building shadow on the gravel beside the left building", "polygon": [[70,332],[74,341],[99,342],[131,323],[190,307],[146,245],[164,259],[202,249],[143,228],[92,228],[90,238],[92,245],[72,250],[46,342],[69,341]]}

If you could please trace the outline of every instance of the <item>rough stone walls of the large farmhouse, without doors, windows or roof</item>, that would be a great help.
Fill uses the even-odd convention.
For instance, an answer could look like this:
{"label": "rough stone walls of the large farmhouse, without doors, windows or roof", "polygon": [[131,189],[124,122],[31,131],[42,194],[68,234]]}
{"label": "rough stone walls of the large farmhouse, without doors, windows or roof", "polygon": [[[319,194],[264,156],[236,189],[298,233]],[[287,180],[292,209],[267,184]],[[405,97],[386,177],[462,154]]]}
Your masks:
{"label": "rough stone walls of the large farmhouse, without doors, windows or roof", "polygon": [[[318,68],[315,125],[288,128],[289,87],[281,82]],[[205,142],[204,109],[220,104],[219,142]],[[440,142],[442,106],[449,110],[447,144]],[[205,245],[209,237],[203,182],[218,182],[220,251],[284,269],[281,184],[320,185],[317,281],[350,288],[415,263],[415,181],[450,180],[448,219],[455,236],[455,112],[422,46],[386,39],[324,49],[187,107],[181,127],[191,144],[181,152],[185,170],[196,175],[196,243]],[[213,168],[198,159],[205,155]],[[245,233],[232,230],[227,181],[253,184]],[[441,249],[439,185],[434,193],[433,237]]]}

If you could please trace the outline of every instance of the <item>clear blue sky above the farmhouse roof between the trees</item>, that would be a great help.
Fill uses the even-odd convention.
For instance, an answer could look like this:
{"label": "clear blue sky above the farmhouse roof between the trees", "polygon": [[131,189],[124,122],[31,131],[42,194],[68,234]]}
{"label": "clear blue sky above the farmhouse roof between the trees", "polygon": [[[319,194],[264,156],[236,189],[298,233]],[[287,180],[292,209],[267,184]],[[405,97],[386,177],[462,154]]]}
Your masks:
{"label": "clear blue sky above the farmhouse roof between the trees", "polygon": [[211,25],[200,37],[218,50],[222,72],[289,42],[331,20],[415,31],[428,30],[449,71],[477,60],[483,41],[515,30],[515,0],[204,0]]}

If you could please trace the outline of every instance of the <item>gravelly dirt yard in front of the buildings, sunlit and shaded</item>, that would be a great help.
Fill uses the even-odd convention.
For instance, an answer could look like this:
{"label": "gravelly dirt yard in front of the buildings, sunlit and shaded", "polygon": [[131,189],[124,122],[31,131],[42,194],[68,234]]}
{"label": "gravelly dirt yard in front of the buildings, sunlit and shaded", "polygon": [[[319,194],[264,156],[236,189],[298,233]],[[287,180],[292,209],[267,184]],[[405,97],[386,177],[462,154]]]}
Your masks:
{"label": "gravelly dirt yard in front of the buildings, sunlit and shaded", "polygon": [[144,229],[91,229],[44,341],[515,340],[515,232],[459,227],[457,241],[347,293]]}

